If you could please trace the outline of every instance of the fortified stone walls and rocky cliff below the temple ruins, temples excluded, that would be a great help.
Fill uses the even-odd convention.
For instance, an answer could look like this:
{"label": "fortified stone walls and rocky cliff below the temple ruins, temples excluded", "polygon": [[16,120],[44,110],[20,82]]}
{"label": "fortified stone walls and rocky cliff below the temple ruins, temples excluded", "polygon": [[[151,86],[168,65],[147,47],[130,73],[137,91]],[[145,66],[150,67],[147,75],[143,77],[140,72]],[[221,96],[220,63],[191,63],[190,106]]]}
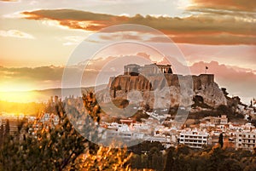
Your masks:
{"label": "fortified stone walls and rocky cliff below the temple ruins, temples excluded", "polygon": [[[189,88],[189,85],[193,87]],[[109,79],[108,92],[112,98],[108,98],[108,100],[127,98],[129,93],[134,91],[139,92],[142,99],[135,100],[133,103],[148,104],[151,108],[192,105],[193,97],[191,96],[195,95],[201,96],[204,103],[214,108],[227,104],[224,94],[218,88],[218,84],[214,82],[212,74],[182,76],[166,73],[148,77],[120,75]],[[106,100],[104,101],[106,102]]]}

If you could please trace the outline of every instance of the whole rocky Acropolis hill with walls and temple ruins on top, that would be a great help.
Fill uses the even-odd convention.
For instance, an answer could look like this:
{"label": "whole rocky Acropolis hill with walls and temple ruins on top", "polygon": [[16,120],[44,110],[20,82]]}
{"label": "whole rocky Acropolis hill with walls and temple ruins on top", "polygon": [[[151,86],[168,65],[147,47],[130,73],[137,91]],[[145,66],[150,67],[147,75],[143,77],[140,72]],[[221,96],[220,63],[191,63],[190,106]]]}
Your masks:
{"label": "whole rocky Acropolis hill with walls and temple ruins on top", "polygon": [[[193,88],[181,91],[181,82],[185,84],[192,82]],[[214,108],[227,104],[222,90],[214,82],[213,74],[177,75],[172,73],[171,65],[127,65],[124,67],[123,75],[110,77],[108,90],[111,97],[105,95],[103,98],[105,102],[111,99],[128,99],[133,103],[148,104],[152,108],[191,105],[193,101],[189,99],[192,98],[188,100],[181,98],[191,94],[193,97],[200,97],[205,104]],[[137,93],[138,91],[140,94]]]}

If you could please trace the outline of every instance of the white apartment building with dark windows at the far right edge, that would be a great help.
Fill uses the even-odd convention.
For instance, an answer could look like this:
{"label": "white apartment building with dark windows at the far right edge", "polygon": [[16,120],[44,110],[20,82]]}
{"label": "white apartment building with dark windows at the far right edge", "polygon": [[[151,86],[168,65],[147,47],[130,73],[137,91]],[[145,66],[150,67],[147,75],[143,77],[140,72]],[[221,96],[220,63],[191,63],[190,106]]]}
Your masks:
{"label": "white apartment building with dark windows at the far right edge", "polygon": [[256,147],[256,132],[236,132],[236,149],[243,149],[247,151],[253,151],[253,148]]}

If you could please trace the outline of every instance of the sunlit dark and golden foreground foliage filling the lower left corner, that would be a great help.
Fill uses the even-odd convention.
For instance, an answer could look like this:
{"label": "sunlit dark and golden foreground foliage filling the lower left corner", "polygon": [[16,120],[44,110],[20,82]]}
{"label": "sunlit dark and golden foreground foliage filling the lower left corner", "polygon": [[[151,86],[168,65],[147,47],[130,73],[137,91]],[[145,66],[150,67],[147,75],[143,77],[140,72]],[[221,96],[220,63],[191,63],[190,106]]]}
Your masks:
{"label": "sunlit dark and golden foreground foliage filling the lower left corner", "polygon": [[[99,167],[95,168],[97,170],[128,169],[130,166],[127,162],[131,154],[125,149],[95,145],[74,128],[71,122],[83,119],[85,123],[81,129],[88,130],[91,136],[97,136],[97,132],[92,131],[95,130],[92,128],[93,122],[86,123],[90,116],[84,107],[79,108],[79,100],[67,100],[65,104],[59,103],[58,107],[52,106],[58,109],[57,115],[60,116],[57,125],[40,122],[27,124],[22,128],[26,131],[21,131],[26,132],[23,134],[25,139],[20,140],[12,135],[6,137],[0,147],[0,170],[91,170],[94,166]],[[90,102],[93,106],[97,105],[96,101]],[[65,111],[61,113],[60,109],[64,105]],[[90,105],[86,107],[89,110],[95,109]],[[97,115],[99,111],[91,112]],[[102,159],[96,160],[99,155],[102,155]],[[94,165],[91,169],[88,167],[90,163]]]}

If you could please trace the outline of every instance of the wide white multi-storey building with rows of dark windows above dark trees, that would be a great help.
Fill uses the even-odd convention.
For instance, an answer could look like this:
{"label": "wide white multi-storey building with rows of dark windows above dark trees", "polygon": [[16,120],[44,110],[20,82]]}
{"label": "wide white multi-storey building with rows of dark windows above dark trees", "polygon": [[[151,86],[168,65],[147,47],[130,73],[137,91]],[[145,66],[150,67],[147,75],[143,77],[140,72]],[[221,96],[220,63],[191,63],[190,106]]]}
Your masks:
{"label": "wide white multi-storey building with rows of dark windows above dark trees", "polygon": [[179,134],[179,143],[191,148],[202,148],[208,144],[208,133],[198,130],[183,130]]}

